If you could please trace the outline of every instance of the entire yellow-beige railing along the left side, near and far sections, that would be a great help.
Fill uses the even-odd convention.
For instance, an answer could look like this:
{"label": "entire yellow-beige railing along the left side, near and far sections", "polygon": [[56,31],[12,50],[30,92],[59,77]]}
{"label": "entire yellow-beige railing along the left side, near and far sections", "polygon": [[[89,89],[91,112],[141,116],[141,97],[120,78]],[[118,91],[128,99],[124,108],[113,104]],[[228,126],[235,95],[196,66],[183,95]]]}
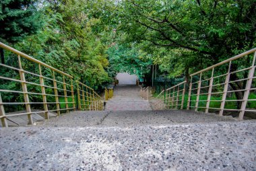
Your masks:
{"label": "entire yellow-beige railing along the left side, near and far sections", "polygon": [[[3,127],[8,127],[7,118],[11,116],[28,116],[28,124],[33,124],[32,109],[42,109],[46,119],[49,119],[49,112],[69,112],[75,110],[75,96],[73,77],[59,69],[55,69],[46,63],[38,61],[6,44],[0,42],[0,47],[7,50],[7,55],[11,61],[9,63],[0,63],[2,75],[0,75],[0,118]],[[7,84],[10,84],[7,88]],[[79,101],[79,109],[102,110],[102,101],[100,96],[88,86],[82,84],[84,88],[92,90],[92,98],[88,106],[84,105],[83,100],[88,100],[88,96],[83,93],[90,93],[81,88],[82,83],[77,83],[77,93],[82,92],[82,100]],[[18,97],[17,101],[5,100],[8,96]],[[35,98],[36,97],[36,98]],[[80,96],[78,96],[80,98]],[[36,100],[36,101],[35,101]],[[15,114],[6,114],[6,109],[10,106],[26,108],[26,112],[15,111]],[[85,107],[82,107],[85,106]],[[7,111],[9,112],[9,111]],[[13,111],[12,111],[13,112]]]}

